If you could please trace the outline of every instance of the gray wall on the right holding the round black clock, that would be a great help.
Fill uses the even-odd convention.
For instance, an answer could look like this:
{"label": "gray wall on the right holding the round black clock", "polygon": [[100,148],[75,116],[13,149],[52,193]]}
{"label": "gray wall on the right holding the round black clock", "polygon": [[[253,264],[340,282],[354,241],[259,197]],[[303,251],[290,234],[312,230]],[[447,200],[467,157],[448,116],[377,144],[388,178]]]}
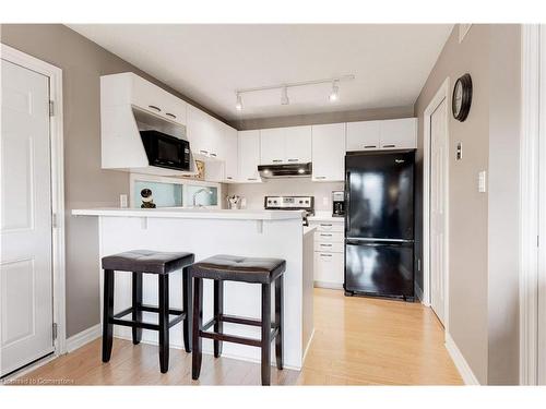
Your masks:
{"label": "gray wall on the right holding the round black clock", "polygon": [[[455,26],[415,104],[420,183],[424,111],[446,77],[451,93],[472,75],[468,118],[448,124],[449,332],[482,384],[518,383],[519,41],[519,26],[473,25],[459,44]],[[480,170],[488,193],[477,191]]]}

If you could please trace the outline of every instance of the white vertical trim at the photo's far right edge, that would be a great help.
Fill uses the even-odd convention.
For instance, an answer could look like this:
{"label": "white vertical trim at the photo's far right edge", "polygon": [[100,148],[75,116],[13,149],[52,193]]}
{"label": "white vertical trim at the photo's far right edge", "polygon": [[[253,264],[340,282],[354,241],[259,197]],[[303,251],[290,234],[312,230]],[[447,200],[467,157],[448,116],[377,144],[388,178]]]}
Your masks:
{"label": "white vertical trim at the photo's far right edge", "polygon": [[[522,26],[519,268],[521,385],[536,385],[538,382],[539,38],[541,26]],[[545,169],[544,164],[542,168]]]}

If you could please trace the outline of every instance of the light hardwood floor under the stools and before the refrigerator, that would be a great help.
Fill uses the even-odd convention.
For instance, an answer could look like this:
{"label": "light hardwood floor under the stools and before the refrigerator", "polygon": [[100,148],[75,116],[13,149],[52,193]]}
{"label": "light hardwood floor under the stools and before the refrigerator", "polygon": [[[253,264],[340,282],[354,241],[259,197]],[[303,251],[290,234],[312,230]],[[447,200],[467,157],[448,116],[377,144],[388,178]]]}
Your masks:
{"label": "light hardwood floor under the stools and before the refrigerator", "polygon": [[[418,303],[347,298],[314,290],[314,338],[304,369],[272,371],[273,385],[461,385],[443,346],[441,325]],[[100,339],[19,378],[21,384],[259,385],[260,365],[203,356],[199,382],[191,354],[171,349],[166,374],[157,347],[115,339],[111,360],[100,361]]]}

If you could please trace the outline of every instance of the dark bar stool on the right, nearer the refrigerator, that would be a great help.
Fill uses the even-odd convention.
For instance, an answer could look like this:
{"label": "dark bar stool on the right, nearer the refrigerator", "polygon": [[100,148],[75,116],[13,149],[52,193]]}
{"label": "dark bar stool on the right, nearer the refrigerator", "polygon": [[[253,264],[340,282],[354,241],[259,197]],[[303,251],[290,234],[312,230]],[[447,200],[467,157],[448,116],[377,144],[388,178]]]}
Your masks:
{"label": "dark bar stool on the right, nearer the refrigerator", "polygon": [[[191,376],[199,378],[202,361],[202,338],[214,340],[214,357],[222,354],[222,341],[260,347],[262,350],[262,385],[271,383],[271,341],[275,339],[276,366],[283,369],[283,274],[286,262],[280,258],[252,258],[215,255],[189,267],[193,278],[193,356]],[[203,278],[214,280],[214,316],[203,325]],[[224,314],[224,281],[262,285],[262,320]],[[271,323],[271,285],[275,285],[275,322]],[[223,323],[259,326],[261,339],[223,333]],[[207,332],[214,326],[214,332]]]}

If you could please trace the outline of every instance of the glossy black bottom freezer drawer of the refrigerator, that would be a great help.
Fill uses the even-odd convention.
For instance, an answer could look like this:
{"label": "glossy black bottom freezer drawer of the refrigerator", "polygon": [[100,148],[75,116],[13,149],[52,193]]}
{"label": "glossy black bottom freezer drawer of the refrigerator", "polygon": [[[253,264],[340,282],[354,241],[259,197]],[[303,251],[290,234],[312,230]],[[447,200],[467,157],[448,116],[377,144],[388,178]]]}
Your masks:
{"label": "glossy black bottom freezer drawer of the refrigerator", "polygon": [[345,290],[414,297],[412,243],[345,244]]}

